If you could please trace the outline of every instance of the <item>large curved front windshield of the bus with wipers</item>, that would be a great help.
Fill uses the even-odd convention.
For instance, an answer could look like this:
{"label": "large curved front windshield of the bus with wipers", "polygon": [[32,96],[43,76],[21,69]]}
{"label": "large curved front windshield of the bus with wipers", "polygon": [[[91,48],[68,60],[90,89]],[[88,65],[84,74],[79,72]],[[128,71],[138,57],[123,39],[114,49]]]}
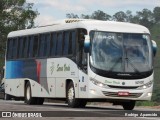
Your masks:
{"label": "large curved front windshield of the bus with wipers", "polygon": [[148,34],[91,32],[92,67],[109,72],[139,73],[152,69]]}

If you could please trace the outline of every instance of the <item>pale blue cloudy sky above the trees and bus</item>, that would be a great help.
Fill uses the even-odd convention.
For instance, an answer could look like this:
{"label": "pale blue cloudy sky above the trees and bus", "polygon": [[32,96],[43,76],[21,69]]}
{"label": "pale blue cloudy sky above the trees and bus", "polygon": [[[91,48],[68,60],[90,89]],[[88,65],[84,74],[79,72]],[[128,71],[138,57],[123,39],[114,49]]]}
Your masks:
{"label": "pale blue cloudy sky above the trees and bus", "polygon": [[34,10],[39,12],[35,19],[36,26],[49,25],[54,21],[66,19],[67,13],[77,15],[91,15],[94,11],[114,15],[116,12],[127,10],[142,11],[147,8],[151,11],[157,6],[160,7],[160,0],[26,0],[34,3]]}

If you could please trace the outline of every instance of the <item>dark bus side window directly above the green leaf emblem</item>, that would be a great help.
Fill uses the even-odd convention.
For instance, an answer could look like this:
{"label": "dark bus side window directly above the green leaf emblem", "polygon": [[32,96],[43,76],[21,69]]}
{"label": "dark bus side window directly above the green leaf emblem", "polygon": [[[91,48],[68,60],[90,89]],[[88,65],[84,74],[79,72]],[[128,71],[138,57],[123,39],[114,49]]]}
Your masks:
{"label": "dark bus side window directly above the green leaf emblem", "polygon": [[55,56],[56,54],[56,44],[57,44],[57,34],[56,33],[52,33],[51,35],[51,56]]}

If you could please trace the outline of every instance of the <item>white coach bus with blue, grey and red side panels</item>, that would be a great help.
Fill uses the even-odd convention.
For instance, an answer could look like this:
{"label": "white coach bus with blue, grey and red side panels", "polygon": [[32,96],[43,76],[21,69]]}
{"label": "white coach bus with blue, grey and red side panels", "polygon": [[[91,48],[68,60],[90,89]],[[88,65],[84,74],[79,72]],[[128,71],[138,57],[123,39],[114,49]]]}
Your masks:
{"label": "white coach bus with blue, grey and red side panels", "polygon": [[151,100],[156,43],[141,25],[66,19],[8,34],[5,94],[42,105],[110,102],[125,110]]}

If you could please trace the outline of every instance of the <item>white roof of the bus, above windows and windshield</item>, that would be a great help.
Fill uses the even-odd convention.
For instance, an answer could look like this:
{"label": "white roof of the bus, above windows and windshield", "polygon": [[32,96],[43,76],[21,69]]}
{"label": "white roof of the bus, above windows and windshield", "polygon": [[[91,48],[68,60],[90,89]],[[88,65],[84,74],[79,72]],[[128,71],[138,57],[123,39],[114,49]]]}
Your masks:
{"label": "white roof of the bus, above windows and windshield", "polygon": [[149,30],[141,25],[127,23],[127,22],[115,22],[115,21],[101,21],[91,19],[68,19],[57,21],[52,25],[40,26],[32,29],[25,29],[19,31],[13,31],[8,34],[8,37],[26,36],[40,33],[47,33],[53,31],[61,31],[67,29],[85,28],[88,31],[108,31],[108,32],[121,32],[121,33],[148,33]]}

